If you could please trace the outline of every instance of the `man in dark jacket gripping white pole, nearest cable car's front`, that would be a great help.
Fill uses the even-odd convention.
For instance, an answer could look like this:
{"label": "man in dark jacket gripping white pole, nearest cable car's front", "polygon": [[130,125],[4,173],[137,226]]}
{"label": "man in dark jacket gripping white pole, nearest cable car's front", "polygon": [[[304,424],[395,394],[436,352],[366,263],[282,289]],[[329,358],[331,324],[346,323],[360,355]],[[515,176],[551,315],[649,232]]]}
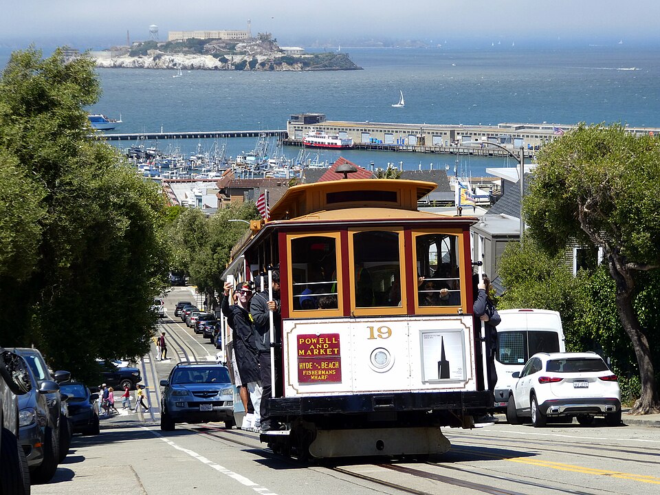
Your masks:
{"label": "man in dark jacket gripping white pole, nearest cable car's front", "polygon": [[[261,370],[261,429],[263,431],[277,430],[280,425],[273,423],[266,412],[266,401],[273,396],[272,391],[272,369],[270,361],[270,313],[273,314],[273,329],[275,340],[281,331],[281,313],[280,313],[280,272],[272,272],[272,298],[267,289],[256,294],[250,301],[250,314],[254,320],[254,340],[256,349],[259,351],[259,369]],[[275,359],[278,362],[280,353],[276,349]],[[275,381],[278,382],[278,366],[275,366]]]}

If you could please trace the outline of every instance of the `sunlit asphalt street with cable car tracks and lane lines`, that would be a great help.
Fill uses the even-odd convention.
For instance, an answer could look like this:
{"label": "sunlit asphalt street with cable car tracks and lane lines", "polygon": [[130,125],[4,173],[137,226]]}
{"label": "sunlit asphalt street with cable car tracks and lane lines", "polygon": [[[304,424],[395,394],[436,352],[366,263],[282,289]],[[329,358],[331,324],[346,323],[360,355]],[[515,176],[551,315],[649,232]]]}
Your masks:
{"label": "sunlit asphalt street with cable car tracks and lane lines", "polygon": [[[173,315],[176,289],[166,308]],[[187,294],[190,295],[190,292]],[[213,360],[216,350],[176,318],[165,318],[170,360],[155,347],[140,363],[151,411],[122,411],[102,419],[96,437],[74,437],[50,483],[32,494],[630,494],[660,493],[660,429],[626,417],[608,428],[498,423],[474,430],[446,429],[452,449],[428,463],[347,459],[303,465],[275,456],[259,435],[223,430],[222,423],[159,429],[158,380],[179,358]],[[120,404],[120,401],[118,402]]]}

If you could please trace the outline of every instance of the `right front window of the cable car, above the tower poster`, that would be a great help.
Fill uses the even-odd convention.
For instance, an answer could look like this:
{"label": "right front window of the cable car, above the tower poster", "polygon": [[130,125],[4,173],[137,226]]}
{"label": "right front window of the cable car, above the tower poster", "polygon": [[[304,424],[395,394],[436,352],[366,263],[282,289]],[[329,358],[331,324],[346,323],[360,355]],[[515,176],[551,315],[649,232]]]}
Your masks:
{"label": "right front window of the cable car, above the tower poster", "polygon": [[415,247],[419,306],[460,306],[459,237],[421,234]]}

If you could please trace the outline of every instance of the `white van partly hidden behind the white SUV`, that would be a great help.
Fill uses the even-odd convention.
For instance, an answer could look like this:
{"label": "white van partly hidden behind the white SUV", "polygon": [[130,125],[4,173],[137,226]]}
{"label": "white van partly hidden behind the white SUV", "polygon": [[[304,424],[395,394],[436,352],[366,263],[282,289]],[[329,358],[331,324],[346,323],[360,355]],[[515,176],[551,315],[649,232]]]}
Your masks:
{"label": "white van partly hidden behind the white SUV", "polygon": [[566,352],[562,318],[547,309],[503,309],[497,311],[501,322],[497,329],[495,369],[495,408],[506,410],[509,390],[516,383],[511,377],[531,355],[538,352]]}

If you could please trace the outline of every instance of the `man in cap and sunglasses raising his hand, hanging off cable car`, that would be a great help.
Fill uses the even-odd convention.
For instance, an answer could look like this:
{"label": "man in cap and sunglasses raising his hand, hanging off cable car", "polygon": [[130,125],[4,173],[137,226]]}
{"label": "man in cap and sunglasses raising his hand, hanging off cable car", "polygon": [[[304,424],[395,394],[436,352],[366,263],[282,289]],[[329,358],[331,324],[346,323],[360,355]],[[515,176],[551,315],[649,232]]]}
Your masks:
{"label": "man in cap and sunglasses raising his hand, hanging off cable car", "polygon": [[[235,305],[229,304],[229,291],[232,283],[225,282],[221,303],[222,314],[227,318],[227,324],[232,329],[234,340],[234,356],[239,369],[241,384],[248,386],[250,400],[254,406],[254,415],[248,414],[245,408],[243,428],[261,428],[261,375],[259,371],[259,352],[254,341],[254,322],[250,315],[250,300],[254,294],[254,283],[245,281],[236,288],[239,297]],[[245,403],[243,404],[245,405]]]}

